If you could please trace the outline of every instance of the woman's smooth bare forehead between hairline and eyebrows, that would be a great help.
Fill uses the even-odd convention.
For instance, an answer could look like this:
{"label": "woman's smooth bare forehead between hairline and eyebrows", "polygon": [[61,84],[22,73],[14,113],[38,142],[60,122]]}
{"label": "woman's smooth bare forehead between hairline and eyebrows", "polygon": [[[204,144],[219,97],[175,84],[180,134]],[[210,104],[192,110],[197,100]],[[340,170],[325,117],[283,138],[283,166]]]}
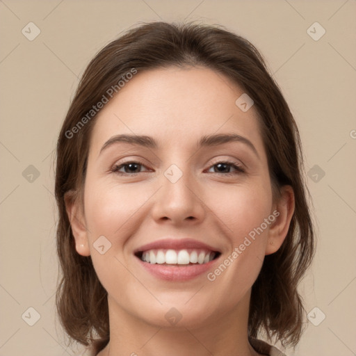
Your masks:
{"label": "woman's smooth bare forehead between hairline and eyebrows", "polygon": [[[241,111],[243,90],[206,67],[169,67],[138,72],[95,119],[90,151],[118,133],[147,135],[162,145],[196,143],[211,133],[238,133],[261,149],[257,112]],[[260,146],[260,147],[259,147]]]}

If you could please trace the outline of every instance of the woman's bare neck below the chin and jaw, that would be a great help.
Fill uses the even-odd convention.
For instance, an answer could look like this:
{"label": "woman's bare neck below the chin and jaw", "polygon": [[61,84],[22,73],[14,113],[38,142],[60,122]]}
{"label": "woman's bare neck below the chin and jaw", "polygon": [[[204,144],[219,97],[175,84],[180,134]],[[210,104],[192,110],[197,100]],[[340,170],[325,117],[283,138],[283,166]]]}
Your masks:
{"label": "woman's bare neck below the chin and jaw", "polygon": [[232,312],[213,321],[167,327],[136,318],[108,297],[110,342],[97,356],[260,355],[248,342],[249,300],[247,293]]}

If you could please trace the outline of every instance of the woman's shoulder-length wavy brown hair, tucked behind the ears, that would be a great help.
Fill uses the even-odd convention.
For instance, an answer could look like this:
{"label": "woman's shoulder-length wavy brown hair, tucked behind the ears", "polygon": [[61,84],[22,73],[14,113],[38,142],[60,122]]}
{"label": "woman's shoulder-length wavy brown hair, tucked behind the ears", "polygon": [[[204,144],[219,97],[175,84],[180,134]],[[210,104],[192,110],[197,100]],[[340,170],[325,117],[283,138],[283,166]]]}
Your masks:
{"label": "woman's shoulder-length wavy brown hair, tucked behind the ears", "polygon": [[[93,332],[102,345],[108,342],[107,292],[97,278],[91,257],[76,252],[64,200],[67,191],[80,192],[85,182],[95,122],[95,115],[88,118],[88,113],[108,88],[117,86],[133,68],[140,72],[172,65],[209,67],[252,97],[259,113],[274,200],[279,197],[281,186],[289,184],[293,188],[295,211],[289,232],[280,249],[265,257],[252,286],[248,334],[257,337],[259,332],[266,332],[269,339],[275,337],[283,345],[296,346],[303,331],[304,312],[297,286],[314,255],[298,127],[259,51],[223,26],[206,24],[142,24],[107,44],[83,73],[56,152],[57,250],[63,272],[56,293],[60,323],[70,338],[83,345],[95,341]],[[79,126],[84,117],[88,120]]]}

